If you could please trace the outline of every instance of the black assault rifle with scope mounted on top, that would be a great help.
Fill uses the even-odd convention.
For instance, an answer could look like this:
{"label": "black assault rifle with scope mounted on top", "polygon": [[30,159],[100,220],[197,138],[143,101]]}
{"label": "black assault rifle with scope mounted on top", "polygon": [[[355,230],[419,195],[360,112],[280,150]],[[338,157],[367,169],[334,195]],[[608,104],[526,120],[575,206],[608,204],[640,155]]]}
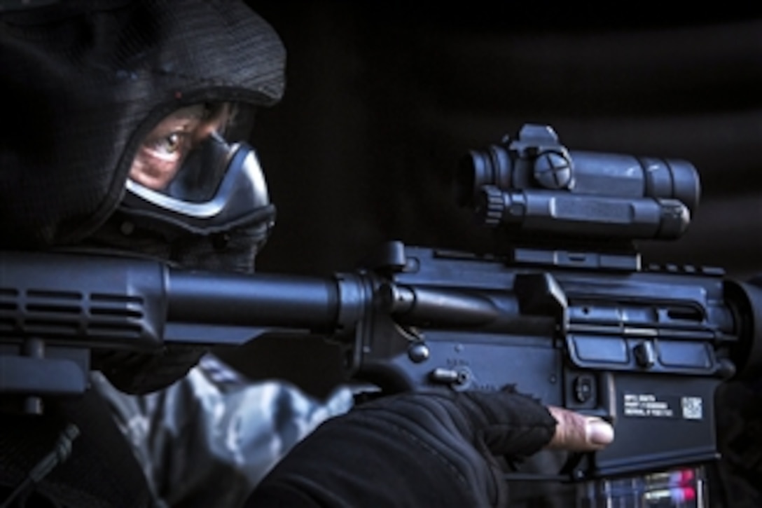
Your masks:
{"label": "black assault rifle with scope mounted on top", "polygon": [[91,352],[236,345],[268,330],[341,343],[383,392],[513,384],[602,416],[616,441],[575,479],[717,457],[714,393],[762,367],[762,289],[699,266],[643,266],[698,205],[683,160],[569,151],[546,126],[474,150],[461,204],[510,238],[489,254],[392,242],[333,277],[196,272],[146,259],[0,254],[0,393],[80,394]]}

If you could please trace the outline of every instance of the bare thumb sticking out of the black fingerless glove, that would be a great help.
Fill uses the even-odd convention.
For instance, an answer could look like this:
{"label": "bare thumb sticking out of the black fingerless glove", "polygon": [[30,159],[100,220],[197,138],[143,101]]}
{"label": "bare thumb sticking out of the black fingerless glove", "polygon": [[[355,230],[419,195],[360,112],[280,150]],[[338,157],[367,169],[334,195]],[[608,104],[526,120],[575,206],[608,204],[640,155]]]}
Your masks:
{"label": "bare thumb sticking out of the black fingerless glove", "polygon": [[584,416],[561,407],[549,406],[558,425],[547,445],[549,449],[569,452],[594,452],[606,447],[614,439],[614,428],[597,416]]}

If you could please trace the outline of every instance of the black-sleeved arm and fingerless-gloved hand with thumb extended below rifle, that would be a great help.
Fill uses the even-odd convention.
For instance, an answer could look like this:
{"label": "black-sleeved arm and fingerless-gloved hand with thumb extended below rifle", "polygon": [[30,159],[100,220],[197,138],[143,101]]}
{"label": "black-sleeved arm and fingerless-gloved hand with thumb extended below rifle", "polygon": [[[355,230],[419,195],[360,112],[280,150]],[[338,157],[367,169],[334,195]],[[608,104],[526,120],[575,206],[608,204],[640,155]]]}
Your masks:
{"label": "black-sleeved arm and fingerless-gloved hand with thumb extended below rifle", "polygon": [[496,455],[592,451],[611,439],[602,420],[511,391],[381,397],[323,423],[246,506],[503,506]]}

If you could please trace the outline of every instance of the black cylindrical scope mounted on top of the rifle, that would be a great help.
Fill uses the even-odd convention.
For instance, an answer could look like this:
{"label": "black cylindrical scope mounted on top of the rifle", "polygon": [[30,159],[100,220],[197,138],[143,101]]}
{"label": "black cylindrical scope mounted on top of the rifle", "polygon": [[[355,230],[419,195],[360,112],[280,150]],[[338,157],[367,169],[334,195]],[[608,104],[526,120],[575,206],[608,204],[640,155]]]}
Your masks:
{"label": "black cylindrical scope mounted on top of the rifle", "polygon": [[515,137],[470,150],[456,195],[479,223],[514,237],[674,240],[700,198],[683,159],[568,150],[552,127],[526,124]]}

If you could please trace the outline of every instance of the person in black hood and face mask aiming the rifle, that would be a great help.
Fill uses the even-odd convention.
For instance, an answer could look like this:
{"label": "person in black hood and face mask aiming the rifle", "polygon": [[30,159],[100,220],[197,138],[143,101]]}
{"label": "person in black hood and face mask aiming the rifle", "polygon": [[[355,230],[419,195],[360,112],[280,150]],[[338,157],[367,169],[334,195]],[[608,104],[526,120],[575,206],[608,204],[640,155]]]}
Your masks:
{"label": "person in black hood and face mask aiming the rifle", "polygon": [[[23,117],[0,127],[2,248],[254,269],[274,207],[255,152],[241,141],[256,109],[277,102],[284,85],[285,53],[267,23],[229,1],[72,1],[3,14],[0,46],[5,111],[27,104]],[[92,365],[102,377],[82,399],[50,400],[42,416],[0,414],[6,500],[234,506],[291,445],[348,406],[341,394],[335,407],[304,406],[291,387],[220,381],[214,371],[230,371],[198,347],[95,347]],[[267,387],[285,394],[279,403],[252,400]],[[281,413],[264,415],[263,407]],[[258,458],[246,443],[256,442],[256,422],[267,416],[286,417],[296,430]],[[69,443],[69,459],[19,490],[72,422],[82,436]],[[228,432],[247,423],[251,432]],[[262,440],[277,433],[265,429]],[[511,391],[383,397],[320,426],[249,502],[498,505],[507,485],[493,455],[594,450],[612,437],[600,420],[551,414]],[[195,460],[204,453],[210,461]]]}

